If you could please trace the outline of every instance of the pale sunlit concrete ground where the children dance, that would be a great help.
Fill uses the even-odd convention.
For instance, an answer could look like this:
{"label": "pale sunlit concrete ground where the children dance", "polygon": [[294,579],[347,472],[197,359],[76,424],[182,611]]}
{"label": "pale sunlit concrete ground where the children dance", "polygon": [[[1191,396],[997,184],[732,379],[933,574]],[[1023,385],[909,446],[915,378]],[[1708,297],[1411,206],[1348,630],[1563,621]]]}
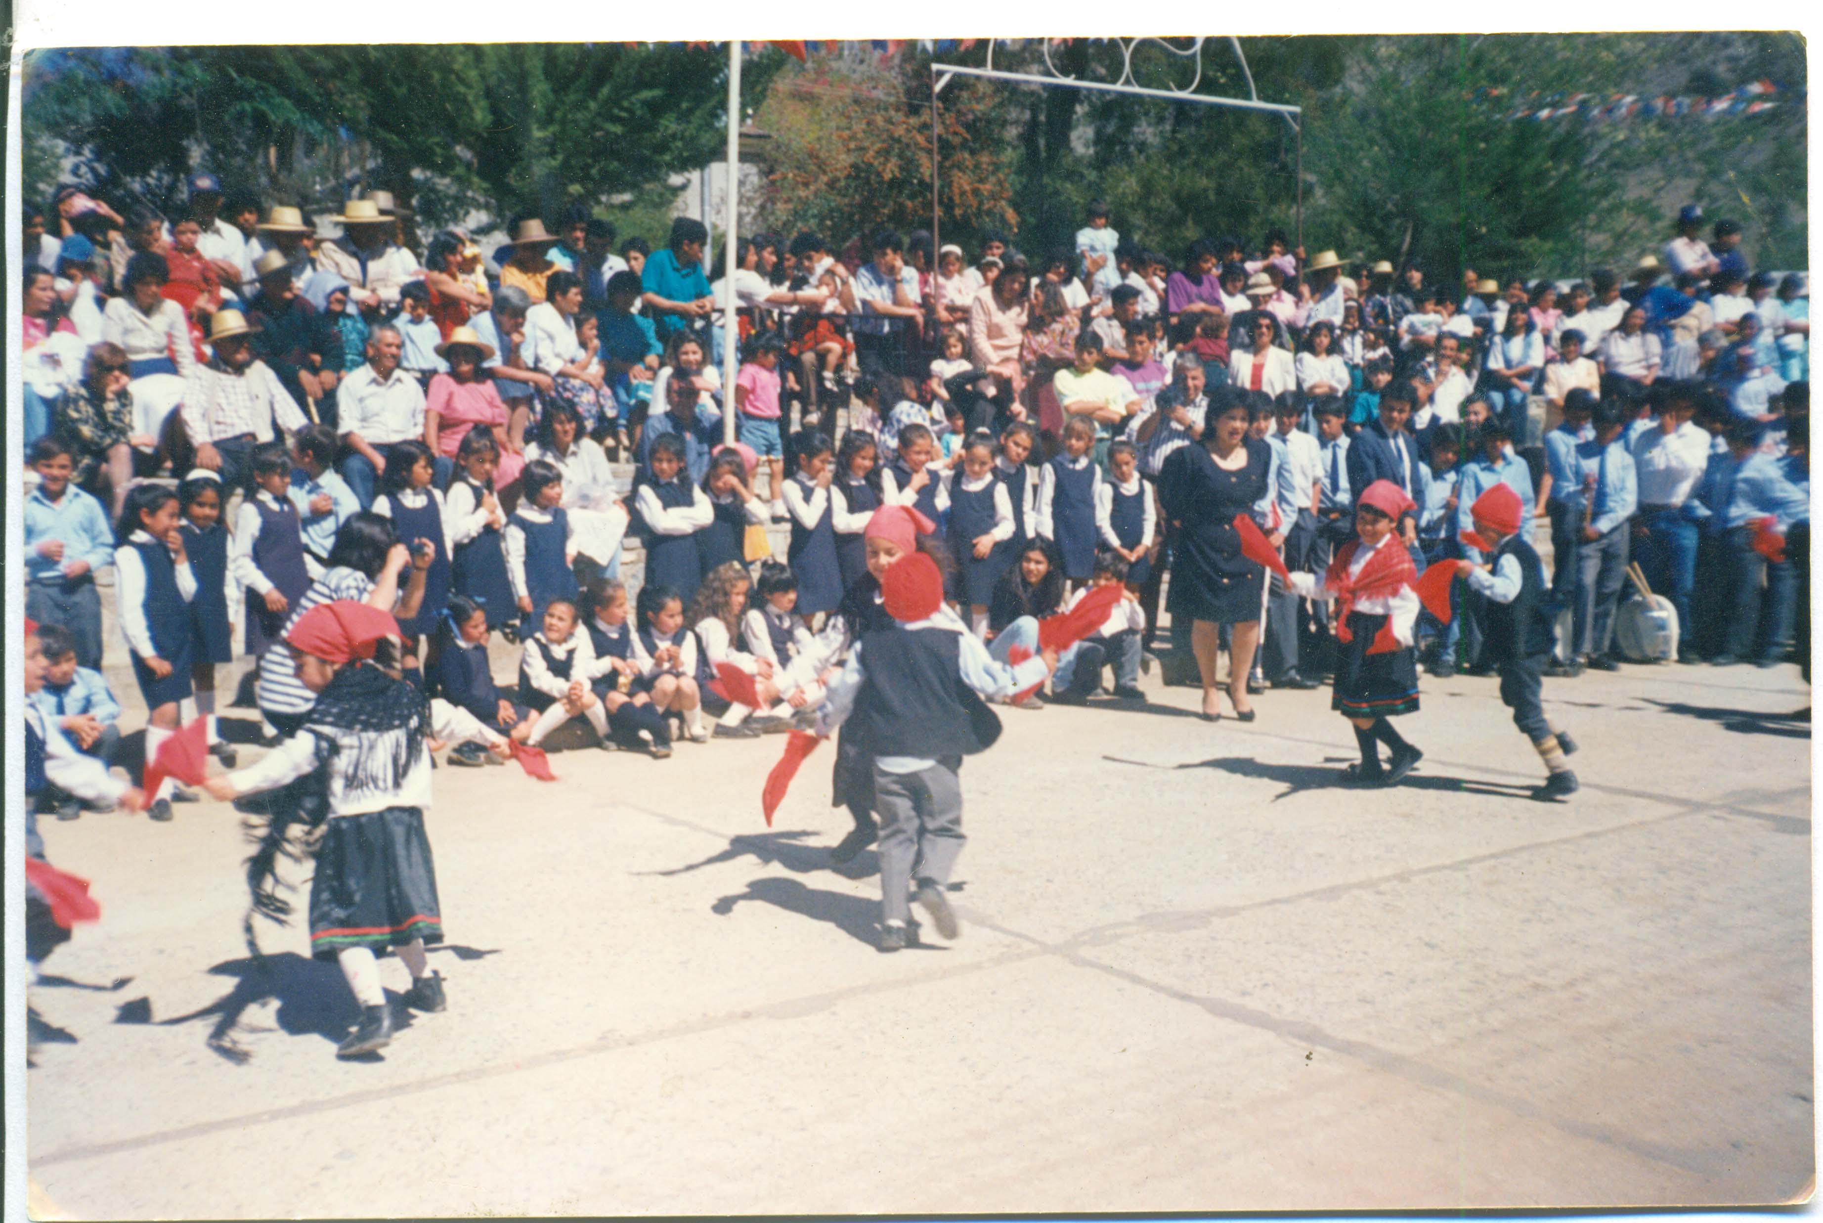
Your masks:
{"label": "pale sunlit concrete ground where the children dance", "polygon": [[[117,638],[109,638],[111,642]],[[501,671],[505,673],[505,671]],[[128,685],[129,687],[129,685]],[[964,767],[963,937],[873,950],[868,851],[782,740],[438,773],[450,1010],[337,1063],[246,844],[44,824],[93,880],[33,988],[51,1216],[1336,1210],[1772,1203],[1814,1183],[1810,696],[1796,667],[1426,680],[1406,786],[1327,691],[1006,713]],[[301,868],[292,868],[294,877]],[[303,900],[303,893],[299,893]],[[405,973],[385,964],[388,986]],[[211,1048],[211,1037],[219,1046]],[[239,1053],[239,1059],[230,1053]]]}

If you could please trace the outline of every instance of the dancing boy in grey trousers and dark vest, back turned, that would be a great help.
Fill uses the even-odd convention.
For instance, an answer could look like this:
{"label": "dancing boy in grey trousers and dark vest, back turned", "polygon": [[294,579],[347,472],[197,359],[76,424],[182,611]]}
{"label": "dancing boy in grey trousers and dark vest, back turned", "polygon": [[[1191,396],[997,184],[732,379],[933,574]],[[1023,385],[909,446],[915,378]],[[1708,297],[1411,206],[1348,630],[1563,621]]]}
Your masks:
{"label": "dancing boy in grey trousers and dark vest, back turned", "polygon": [[1056,665],[1045,651],[1017,665],[994,662],[942,605],[937,563],[910,552],[881,578],[881,596],[893,618],[864,632],[848,654],[840,678],[819,716],[817,733],[844,722],[873,758],[873,802],[881,820],[881,951],[899,951],[912,937],[910,886],[919,864],[917,902],[937,933],[957,935],[944,897],[950,869],[963,851],[963,756],[984,751],[1001,735],[999,718],[981,700],[1043,683]]}

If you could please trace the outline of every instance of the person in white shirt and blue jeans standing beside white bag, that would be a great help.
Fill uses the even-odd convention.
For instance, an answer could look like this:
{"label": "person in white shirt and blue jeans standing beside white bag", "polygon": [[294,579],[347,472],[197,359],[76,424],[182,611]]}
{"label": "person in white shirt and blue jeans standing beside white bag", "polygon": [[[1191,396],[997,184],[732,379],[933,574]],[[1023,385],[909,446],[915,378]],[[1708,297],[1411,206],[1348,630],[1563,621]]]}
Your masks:
{"label": "person in white shirt and blue jeans standing beside white bag", "polygon": [[1692,423],[1694,383],[1661,383],[1659,421],[1633,439],[1639,481],[1639,527],[1644,529],[1641,567],[1653,591],[1677,609],[1677,662],[1695,658],[1690,594],[1697,578],[1697,523],[1684,516],[1710,459],[1710,436]]}

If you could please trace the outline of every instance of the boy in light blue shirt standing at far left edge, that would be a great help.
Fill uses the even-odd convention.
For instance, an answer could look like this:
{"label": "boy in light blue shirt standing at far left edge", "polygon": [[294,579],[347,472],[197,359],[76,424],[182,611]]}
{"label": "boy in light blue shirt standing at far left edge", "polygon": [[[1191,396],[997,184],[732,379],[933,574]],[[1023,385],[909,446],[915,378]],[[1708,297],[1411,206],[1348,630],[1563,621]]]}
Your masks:
{"label": "boy in light blue shirt standing at far left edge", "polygon": [[102,503],[71,485],[69,443],[51,436],[31,447],[38,487],[26,498],[26,616],[77,638],[77,662],[102,665],[102,600],[95,570],[113,563],[113,527]]}

